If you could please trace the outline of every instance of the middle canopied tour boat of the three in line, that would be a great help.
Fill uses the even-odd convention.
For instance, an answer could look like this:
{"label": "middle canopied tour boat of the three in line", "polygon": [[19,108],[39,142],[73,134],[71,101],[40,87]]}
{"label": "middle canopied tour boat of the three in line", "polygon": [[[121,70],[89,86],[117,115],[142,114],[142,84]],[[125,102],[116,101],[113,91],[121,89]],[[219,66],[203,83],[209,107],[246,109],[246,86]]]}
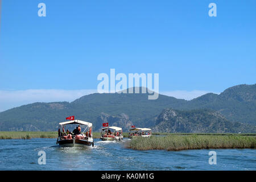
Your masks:
{"label": "middle canopied tour boat of the three in line", "polygon": [[102,141],[121,141],[123,140],[123,131],[121,127],[108,126],[101,129],[101,140]]}

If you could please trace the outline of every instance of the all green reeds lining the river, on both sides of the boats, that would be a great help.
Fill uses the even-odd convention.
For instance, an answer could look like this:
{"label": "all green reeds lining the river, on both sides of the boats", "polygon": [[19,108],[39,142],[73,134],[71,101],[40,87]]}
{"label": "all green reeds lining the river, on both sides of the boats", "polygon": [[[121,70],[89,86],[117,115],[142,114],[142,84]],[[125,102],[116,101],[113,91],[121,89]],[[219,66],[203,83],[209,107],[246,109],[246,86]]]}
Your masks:
{"label": "all green reeds lining the river, on both sides of the boats", "polygon": [[[123,133],[127,138],[128,133]],[[0,131],[0,139],[57,138],[56,131]],[[100,138],[94,132],[93,138]],[[153,133],[150,138],[134,137],[127,148],[133,150],[193,150],[209,148],[256,148],[256,133]]]}

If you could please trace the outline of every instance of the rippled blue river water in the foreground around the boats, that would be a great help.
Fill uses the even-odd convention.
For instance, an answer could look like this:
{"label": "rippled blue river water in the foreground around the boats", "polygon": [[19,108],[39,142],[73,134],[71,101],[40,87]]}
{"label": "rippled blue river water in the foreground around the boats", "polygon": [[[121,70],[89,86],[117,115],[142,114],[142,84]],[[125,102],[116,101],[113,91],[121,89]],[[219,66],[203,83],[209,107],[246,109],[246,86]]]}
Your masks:
{"label": "rippled blue river water in the foreground around the boats", "polygon": [[[94,147],[63,148],[56,139],[0,139],[0,170],[256,170],[256,150],[216,151],[217,164],[209,164],[211,150],[135,151],[123,142],[94,140]],[[46,164],[38,164],[39,151]]]}

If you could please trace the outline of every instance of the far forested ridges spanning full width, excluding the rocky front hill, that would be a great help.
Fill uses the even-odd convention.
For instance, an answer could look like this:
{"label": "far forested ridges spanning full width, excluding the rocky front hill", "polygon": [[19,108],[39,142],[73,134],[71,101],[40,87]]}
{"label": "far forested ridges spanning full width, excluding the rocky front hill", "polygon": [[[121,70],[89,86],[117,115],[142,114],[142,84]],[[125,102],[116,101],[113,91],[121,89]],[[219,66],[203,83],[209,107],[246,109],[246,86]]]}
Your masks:
{"label": "far forested ridges spanning full width, excluding the rocky front hill", "polygon": [[141,127],[154,126],[154,118],[166,108],[184,111],[210,109],[224,115],[228,121],[256,125],[255,93],[256,84],[233,86],[219,95],[209,93],[191,101],[161,94],[157,100],[148,100],[147,94],[94,93],[70,103],[36,102],[3,111],[0,113],[0,130],[52,131],[69,115],[92,122],[94,131],[107,118],[121,125],[125,115],[129,118],[127,126],[130,123]]}

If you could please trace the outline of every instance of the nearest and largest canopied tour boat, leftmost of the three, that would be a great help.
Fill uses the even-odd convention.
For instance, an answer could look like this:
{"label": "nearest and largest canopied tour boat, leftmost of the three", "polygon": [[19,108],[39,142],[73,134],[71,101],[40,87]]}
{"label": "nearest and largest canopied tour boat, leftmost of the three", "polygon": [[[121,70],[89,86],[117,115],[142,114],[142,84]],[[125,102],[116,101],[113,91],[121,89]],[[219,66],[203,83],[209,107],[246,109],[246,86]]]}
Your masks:
{"label": "nearest and largest canopied tour boat, leftmost of the three", "polygon": [[[84,125],[85,129],[81,134],[67,134],[64,129],[65,125]],[[60,131],[63,130],[63,133]],[[85,134],[84,134],[85,133]],[[94,146],[93,135],[92,135],[92,123],[73,120],[59,123],[59,136],[57,142],[61,147],[86,147],[90,148]]]}

